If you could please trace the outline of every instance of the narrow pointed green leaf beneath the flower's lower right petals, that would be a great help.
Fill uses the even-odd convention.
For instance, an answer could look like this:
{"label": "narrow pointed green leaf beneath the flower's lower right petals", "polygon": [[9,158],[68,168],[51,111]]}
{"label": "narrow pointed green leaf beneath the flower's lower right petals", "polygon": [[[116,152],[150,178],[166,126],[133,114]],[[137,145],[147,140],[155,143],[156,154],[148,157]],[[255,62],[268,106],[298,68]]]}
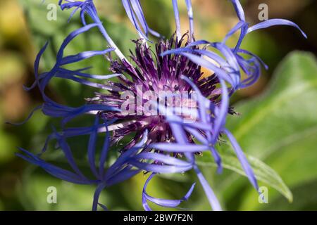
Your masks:
{"label": "narrow pointed green leaf beneath the flower's lower right petals", "polygon": [[[241,167],[240,161],[237,159],[237,156],[233,150],[228,147],[223,147],[218,151],[223,160],[223,168],[230,169],[234,172],[237,172],[238,174],[246,176],[244,170]],[[287,200],[292,202],[292,192],[289,188],[287,188],[284,181],[282,181],[280,176],[271,167],[268,167],[268,165],[266,165],[264,162],[261,162],[261,160],[249,155],[247,155],[247,159],[251,167],[254,169],[254,174],[258,181],[262,181],[263,183],[275,188],[282,195],[284,195]],[[214,162],[210,152],[206,152],[204,153],[203,157],[197,158],[197,164],[202,167],[217,167],[216,162]]]}

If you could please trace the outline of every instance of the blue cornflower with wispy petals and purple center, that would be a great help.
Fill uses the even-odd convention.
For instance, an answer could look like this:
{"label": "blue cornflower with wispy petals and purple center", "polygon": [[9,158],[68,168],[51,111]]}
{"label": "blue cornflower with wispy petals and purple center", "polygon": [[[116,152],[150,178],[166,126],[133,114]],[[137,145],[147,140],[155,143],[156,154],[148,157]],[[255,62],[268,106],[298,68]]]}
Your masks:
{"label": "blue cornflower with wispy petals and purple center", "polygon": [[[189,188],[188,193],[180,200],[164,200],[154,198],[147,194],[146,188],[149,181],[156,174],[181,173],[194,169],[197,173],[201,186],[204,188],[209,203],[213,210],[221,210],[220,203],[213,193],[208,182],[199,170],[195,162],[195,155],[204,151],[211,151],[215,162],[218,165],[218,172],[222,171],[221,158],[216,150],[216,144],[220,136],[227,136],[235,150],[237,158],[240,160],[245,174],[247,174],[251,184],[258,190],[258,184],[247,158],[240,148],[234,136],[225,128],[225,120],[228,113],[233,113],[230,108],[230,96],[238,89],[243,89],[254,84],[260,76],[261,64],[267,66],[261,59],[240,46],[244,37],[254,30],[271,27],[273,25],[290,25],[300,28],[282,19],[267,20],[257,25],[249,27],[245,20],[242,5],[238,0],[231,0],[239,22],[232,28],[221,42],[206,40],[196,40],[194,37],[194,20],[192,4],[190,0],[185,0],[189,17],[189,32],[182,35],[180,32],[180,18],[178,12],[178,1],[171,0],[175,15],[175,35],[168,41],[164,41],[158,32],[151,30],[145,20],[142,6],[139,0],[122,0],[123,8],[128,15],[132,25],[134,25],[139,39],[135,41],[135,54],[132,54],[129,61],[118,49],[114,41],[109,37],[106,29],[97,15],[97,9],[92,0],[70,1],[65,3],[60,0],[59,5],[62,10],[74,8],[71,17],[76,11],[80,11],[80,18],[83,27],[72,32],[61,45],[56,56],[56,65],[49,71],[39,75],[39,60],[44,53],[47,44],[39,51],[35,60],[35,83],[27,90],[38,86],[44,100],[44,104],[39,107],[45,115],[51,117],[61,117],[62,131],[54,131],[46,141],[42,153],[46,150],[46,145],[51,139],[58,141],[58,146],[63,150],[68,163],[74,172],[50,165],[41,160],[37,155],[23,150],[27,155],[18,154],[21,158],[44,168],[53,176],[70,181],[76,184],[98,184],[94,196],[93,210],[97,210],[98,197],[100,192],[107,186],[117,184],[120,181],[129,179],[139,171],[151,172],[151,175],[144,184],[142,203],[145,210],[151,210],[148,201],[163,207],[178,207],[182,201],[187,200],[191,195],[194,185]],[[88,15],[93,23],[87,24],[85,16]],[[70,17],[70,18],[71,18]],[[63,50],[77,35],[89,32],[97,27],[110,46],[103,51],[87,51],[78,53],[75,56],[63,56]],[[240,38],[235,48],[231,49],[226,45],[226,41],[240,30]],[[300,30],[302,32],[302,30]],[[156,44],[155,51],[151,51],[148,46],[149,34],[160,37]],[[306,34],[302,32],[304,37]],[[213,51],[217,50],[217,51]],[[110,53],[116,53],[117,59],[113,59]],[[220,52],[217,53],[217,52]],[[112,75],[90,75],[85,72],[87,68],[78,70],[67,70],[64,65],[75,63],[85,58],[97,55],[108,54],[110,60],[110,70]],[[245,58],[244,56],[247,56]],[[209,75],[203,75],[201,68],[210,71]],[[246,75],[242,79],[241,71]],[[51,100],[45,94],[45,88],[54,77],[70,79],[80,84],[92,86],[97,89],[105,89],[107,94],[97,93],[93,98],[87,98],[87,103],[78,108],[71,108],[61,105]],[[118,81],[96,83],[87,79],[110,79],[117,77]],[[166,105],[154,103],[155,110],[161,112],[166,110],[166,115],[123,115],[120,105],[123,99],[120,94],[123,91],[131,91],[135,96],[141,95],[137,86],[141,86],[145,91],[155,92],[188,91],[189,94],[197,94],[198,105],[191,110],[185,110],[183,115],[177,115],[176,105]],[[182,101],[188,101],[184,99]],[[142,98],[141,101],[144,101]],[[36,109],[39,109],[36,108]],[[137,108],[137,110],[143,110]],[[187,119],[192,113],[197,113],[194,122]],[[73,118],[89,114],[96,117],[92,127],[66,127],[66,124]],[[99,124],[99,120],[104,120]],[[112,131],[112,136],[110,135]],[[106,132],[104,149],[102,150],[99,169],[95,165],[95,141],[97,134]],[[120,157],[116,162],[104,170],[108,149],[116,142],[123,139],[128,134],[135,133],[133,139],[120,151]],[[88,160],[92,174],[96,179],[87,179],[80,169],[75,165],[75,160],[70,152],[70,147],[66,139],[71,136],[90,135],[88,144]],[[21,149],[22,150],[22,149]],[[180,156],[182,159],[180,159]],[[101,205],[104,209],[104,205]]]}

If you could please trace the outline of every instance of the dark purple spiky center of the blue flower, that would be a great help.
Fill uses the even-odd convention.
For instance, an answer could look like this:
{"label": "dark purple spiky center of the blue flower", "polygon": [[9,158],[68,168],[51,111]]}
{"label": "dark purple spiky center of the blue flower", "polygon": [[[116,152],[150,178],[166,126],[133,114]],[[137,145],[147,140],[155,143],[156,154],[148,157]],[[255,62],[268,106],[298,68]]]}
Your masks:
{"label": "dark purple spiky center of the blue flower", "polygon": [[[127,61],[111,61],[111,70],[115,73],[120,73],[124,76],[119,77],[119,82],[109,82],[111,86],[115,86],[120,91],[110,91],[109,94],[97,94],[96,98],[91,100],[93,103],[104,105],[116,106],[118,108],[128,99],[133,98],[131,101],[137,102],[137,98],[141,99],[142,103],[149,101],[149,98],[143,94],[146,91],[152,91],[156,94],[159,92],[168,93],[184,93],[187,92],[190,96],[193,90],[192,87],[181,79],[181,76],[189,77],[200,89],[201,93],[206,98],[218,101],[219,95],[217,94],[216,84],[218,79],[214,75],[203,76],[201,67],[196,63],[188,60],[185,56],[168,55],[161,56],[161,53],[170,49],[180,48],[182,45],[187,46],[185,34],[180,41],[175,38],[175,35],[167,41],[159,41],[156,44],[155,51],[152,51],[142,40],[135,42],[135,53],[131,54],[131,63]],[[123,93],[130,93],[132,96],[122,98]],[[189,105],[182,98],[182,103]],[[153,100],[153,99],[152,99]],[[137,104],[137,103],[136,103]],[[177,105],[176,100],[173,105]],[[130,110],[130,109],[129,109]],[[175,141],[173,135],[165,122],[164,117],[161,115],[144,115],[140,113],[144,111],[144,106],[137,106],[132,110],[132,115],[123,115],[123,113],[116,112],[102,112],[101,117],[117,118],[118,126],[113,126],[113,142],[118,142],[123,139],[125,135],[135,133],[135,138],[128,143],[126,148],[133,146],[144,131],[149,131],[149,141],[151,143],[162,141]],[[189,137],[190,140],[190,137]]]}

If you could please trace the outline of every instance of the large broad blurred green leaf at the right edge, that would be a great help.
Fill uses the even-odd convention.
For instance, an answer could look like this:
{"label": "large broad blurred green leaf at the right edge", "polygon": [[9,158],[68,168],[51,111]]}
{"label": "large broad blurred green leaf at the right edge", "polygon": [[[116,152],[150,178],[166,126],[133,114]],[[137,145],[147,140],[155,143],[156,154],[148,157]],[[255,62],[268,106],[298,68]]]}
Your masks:
{"label": "large broad blurred green leaf at the right edge", "polygon": [[[317,179],[316,99],[316,58],[296,51],[282,61],[268,89],[261,96],[235,105],[241,115],[230,117],[227,122],[244,152],[266,162],[291,190]],[[223,189],[227,202],[237,202],[238,190],[244,196],[234,210],[264,207],[254,199],[247,182],[232,177],[231,174],[223,181],[230,181]],[[270,198],[274,201],[278,195],[270,192]],[[297,191],[294,203],[299,198]],[[285,209],[289,205],[283,204]]]}

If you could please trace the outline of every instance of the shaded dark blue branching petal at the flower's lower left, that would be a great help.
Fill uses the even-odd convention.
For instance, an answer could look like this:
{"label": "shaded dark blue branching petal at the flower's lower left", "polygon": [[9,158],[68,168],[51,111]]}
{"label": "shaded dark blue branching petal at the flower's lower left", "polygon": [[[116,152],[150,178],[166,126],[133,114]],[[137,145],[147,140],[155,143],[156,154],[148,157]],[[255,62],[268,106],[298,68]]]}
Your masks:
{"label": "shaded dark blue branching petal at the flower's lower left", "polygon": [[[23,158],[27,162],[30,162],[32,164],[38,165],[39,167],[42,167],[44,170],[46,170],[46,172],[48,172],[49,174],[53,176],[56,176],[58,179],[63,179],[65,181],[68,181],[74,184],[98,184],[97,189],[94,193],[94,201],[92,205],[92,210],[97,210],[97,206],[100,205],[100,203],[98,202],[99,195],[101,191],[104,190],[104,188],[106,188],[107,186],[113,186],[115,184],[118,184],[119,182],[125,181],[126,179],[130,179],[132,176],[135,176],[136,174],[140,172],[139,169],[133,169],[131,165],[128,165],[129,155],[131,155],[132,153],[135,153],[136,151],[135,150],[136,148],[134,148],[130,151],[128,150],[128,155],[123,153],[123,157],[120,158],[119,162],[116,161],[112,165],[112,167],[110,167],[113,169],[112,172],[108,173],[107,176],[101,176],[102,173],[100,173],[100,176],[99,176],[96,165],[94,164],[95,150],[96,150],[95,148],[96,148],[96,141],[97,141],[97,128],[99,127],[98,122],[99,120],[96,119],[94,126],[92,127],[92,132],[90,132],[89,147],[87,149],[91,172],[94,174],[94,176],[97,177],[96,180],[87,179],[85,175],[82,174],[79,167],[77,167],[75,163],[73,154],[71,153],[70,146],[68,146],[68,143],[66,142],[65,136],[61,136],[61,134],[57,133],[56,131],[54,131],[54,136],[58,140],[58,147],[61,148],[61,150],[63,150],[63,153],[66,156],[66,160],[68,161],[68,164],[70,165],[70,167],[73,168],[75,173],[70,172],[66,169],[62,169],[60,167],[51,165],[50,163],[45,162],[44,160],[39,158],[39,156],[33,155],[32,153],[28,152],[27,150],[24,150],[23,148],[20,148],[20,150],[22,150],[23,153],[25,153],[25,155],[20,153],[17,153],[16,155],[18,155],[18,157],[20,158]],[[104,125],[107,126],[108,123]],[[65,134],[65,132],[63,134]],[[108,153],[108,147],[109,147],[108,139],[109,139],[109,136],[106,135],[104,149],[102,150],[101,155],[106,155]],[[143,140],[137,144],[137,146],[139,146],[138,148],[141,148],[146,142],[146,140],[147,140],[147,132],[144,133]],[[102,166],[104,166],[103,164],[105,160],[106,160],[105,157],[101,160]]]}

